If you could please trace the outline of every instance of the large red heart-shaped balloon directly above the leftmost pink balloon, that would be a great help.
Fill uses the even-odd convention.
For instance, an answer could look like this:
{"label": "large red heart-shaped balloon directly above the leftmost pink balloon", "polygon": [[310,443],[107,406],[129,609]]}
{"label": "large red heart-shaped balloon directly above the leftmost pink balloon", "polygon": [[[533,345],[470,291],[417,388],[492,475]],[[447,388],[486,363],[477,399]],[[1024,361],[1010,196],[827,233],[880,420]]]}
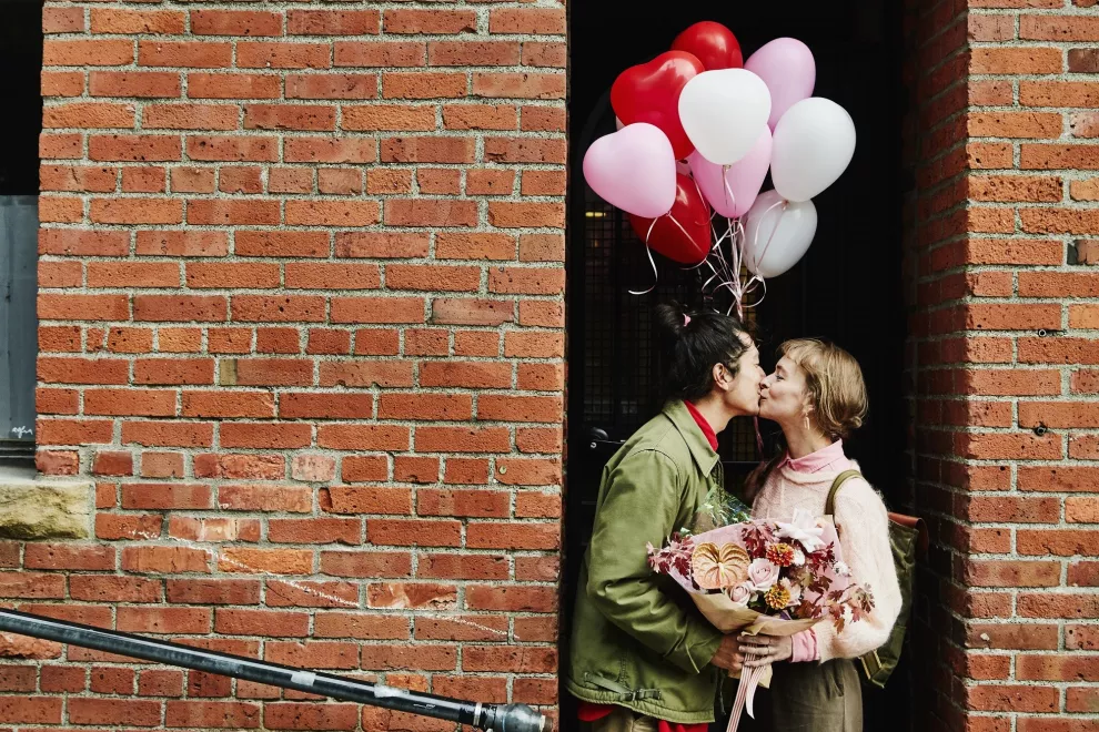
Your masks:
{"label": "large red heart-shaped balloon directly above the leftmost pink balloon", "polygon": [[695,146],[679,123],[679,93],[703,71],[694,55],[667,51],[618,74],[611,87],[611,106],[623,124],[648,122],[659,128],[672,141],[676,160],[683,160]]}

